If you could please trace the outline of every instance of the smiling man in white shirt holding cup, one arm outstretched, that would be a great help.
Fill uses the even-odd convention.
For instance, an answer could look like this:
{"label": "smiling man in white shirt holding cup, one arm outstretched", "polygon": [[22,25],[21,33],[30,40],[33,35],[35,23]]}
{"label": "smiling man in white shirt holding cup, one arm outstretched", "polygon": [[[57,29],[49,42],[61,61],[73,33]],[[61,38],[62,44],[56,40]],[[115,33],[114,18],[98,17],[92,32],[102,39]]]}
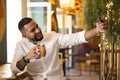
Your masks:
{"label": "smiling man in white shirt holding cup, one arm outstretched", "polygon": [[16,45],[11,64],[12,72],[17,74],[27,69],[33,80],[64,80],[58,56],[60,46],[84,43],[91,37],[105,32],[107,24],[99,22],[92,30],[73,34],[42,34],[38,24],[26,17],[21,19],[18,28],[23,39]]}

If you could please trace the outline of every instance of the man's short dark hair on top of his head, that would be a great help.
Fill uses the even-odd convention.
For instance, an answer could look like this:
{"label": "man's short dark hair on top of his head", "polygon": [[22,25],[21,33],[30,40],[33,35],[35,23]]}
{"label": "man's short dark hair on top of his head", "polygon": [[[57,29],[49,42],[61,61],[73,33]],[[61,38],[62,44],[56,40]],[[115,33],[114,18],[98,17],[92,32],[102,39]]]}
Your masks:
{"label": "man's short dark hair on top of his head", "polygon": [[22,18],[18,24],[19,30],[22,31],[24,29],[24,26],[31,21],[32,21],[32,18],[29,18],[29,17]]}

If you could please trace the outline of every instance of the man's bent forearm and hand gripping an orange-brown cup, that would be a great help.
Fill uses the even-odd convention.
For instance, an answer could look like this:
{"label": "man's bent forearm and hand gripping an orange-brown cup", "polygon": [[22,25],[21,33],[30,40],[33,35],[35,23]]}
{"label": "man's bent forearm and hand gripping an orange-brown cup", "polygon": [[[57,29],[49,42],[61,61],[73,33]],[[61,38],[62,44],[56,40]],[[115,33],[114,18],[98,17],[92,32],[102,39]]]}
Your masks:
{"label": "man's bent forearm and hand gripping an orange-brown cup", "polygon": [[40,59],[46,55],[45,46],[34,46],[30,49],[28,54],[24,56],[21,60],[19,60],[16,64],[19,70],[24,70],[26,66],[26,62],[29,63],[30,59]]}

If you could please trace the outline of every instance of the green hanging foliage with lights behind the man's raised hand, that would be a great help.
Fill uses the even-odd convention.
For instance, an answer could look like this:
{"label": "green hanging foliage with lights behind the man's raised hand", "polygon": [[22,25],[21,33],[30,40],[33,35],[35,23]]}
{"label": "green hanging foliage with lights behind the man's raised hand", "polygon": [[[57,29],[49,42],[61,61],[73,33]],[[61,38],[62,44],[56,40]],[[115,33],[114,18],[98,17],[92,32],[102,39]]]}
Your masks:
{"label": "green hanging foliage with lights behind the man's raised hand", "polygon": [[84,17],[87,30],[95,27],[99,16],[107,18],[109,28],[105,37],[108,41],[113,39],[114,32],[120,35],[119,0],[86,0]]}

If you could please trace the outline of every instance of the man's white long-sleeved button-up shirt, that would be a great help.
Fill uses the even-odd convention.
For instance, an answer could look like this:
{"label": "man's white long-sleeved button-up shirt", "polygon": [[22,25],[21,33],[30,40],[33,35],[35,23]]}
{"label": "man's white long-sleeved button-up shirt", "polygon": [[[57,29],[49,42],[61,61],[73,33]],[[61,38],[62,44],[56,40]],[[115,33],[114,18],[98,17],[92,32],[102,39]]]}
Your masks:
{"label": "man's white long-sleeved button-up shirt", "polygon": [[[40,59],[31,59],[30,63],[26,66],[28,73],[34,80],[37,80],[38,77],[43,79],[46,77],[63,77],[63,69],[58,55],[59,48],[60,46],[71,46],[86,42],[84,35],[85,31],[73,34],[45,33],[43,40],[38,43],[45,45],[46,56]],[[35,45],[26,38],[23,38],[17,43],[14,59],[11,64],[13,73],[21,72],[16,67],[16,63],[22,59],[33,46]],[[42,80],[40,78],[38,80]],[[58,80],[62,80],[62,78]]]}

